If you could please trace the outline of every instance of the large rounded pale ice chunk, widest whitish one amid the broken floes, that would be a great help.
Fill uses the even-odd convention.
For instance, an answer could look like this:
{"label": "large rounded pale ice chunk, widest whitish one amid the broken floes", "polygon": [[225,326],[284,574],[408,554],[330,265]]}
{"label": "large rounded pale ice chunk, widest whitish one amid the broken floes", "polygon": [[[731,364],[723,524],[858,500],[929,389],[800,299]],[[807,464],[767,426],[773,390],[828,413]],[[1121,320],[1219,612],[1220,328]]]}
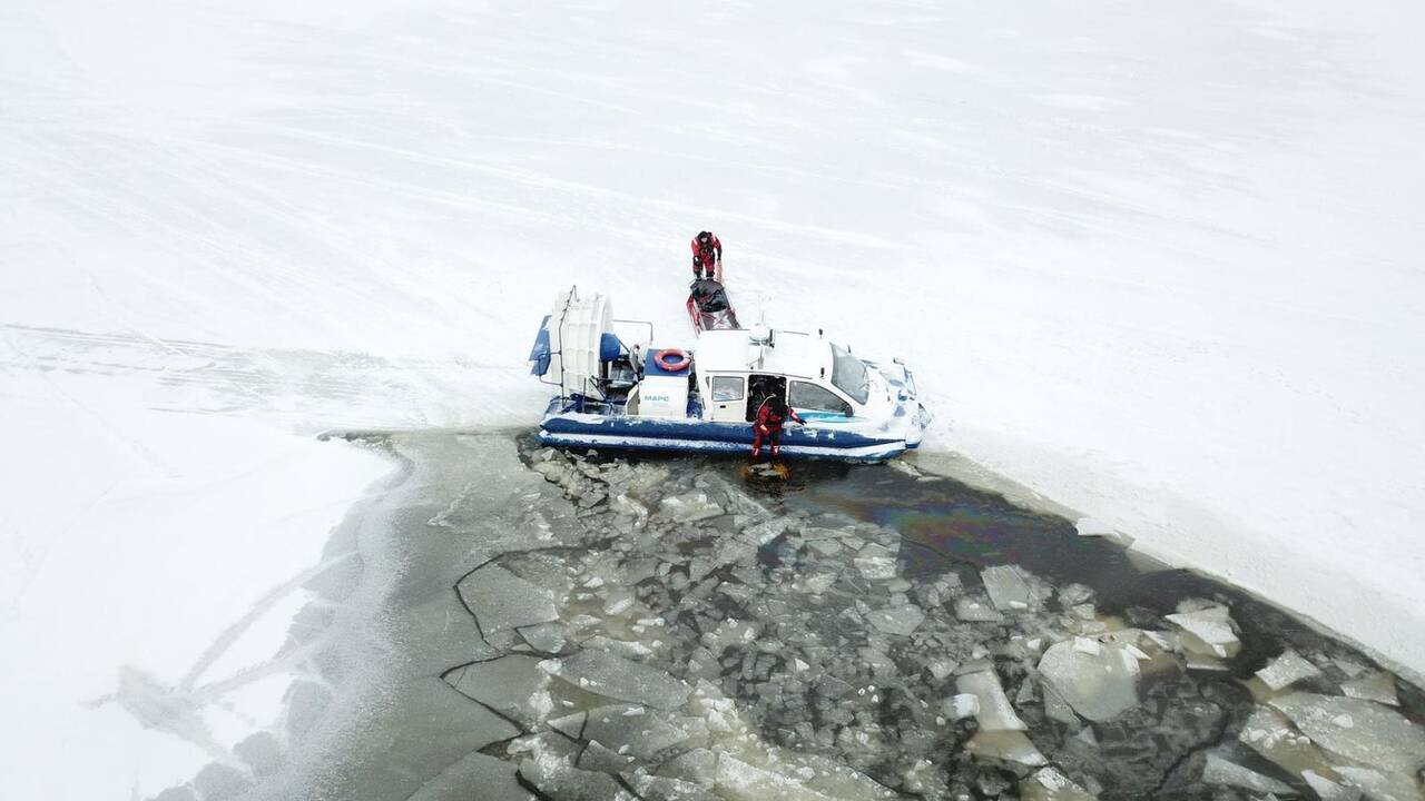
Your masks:
{"label": "large rounded pale ice chunk, widest whitish one amid the broken floes", "polygon": [[1054,643],[1039,660],[1039,673],[1049,690],[1092,721],[1113,720],[1139,703],[1139,660],[1116,643],[1084,637]]}

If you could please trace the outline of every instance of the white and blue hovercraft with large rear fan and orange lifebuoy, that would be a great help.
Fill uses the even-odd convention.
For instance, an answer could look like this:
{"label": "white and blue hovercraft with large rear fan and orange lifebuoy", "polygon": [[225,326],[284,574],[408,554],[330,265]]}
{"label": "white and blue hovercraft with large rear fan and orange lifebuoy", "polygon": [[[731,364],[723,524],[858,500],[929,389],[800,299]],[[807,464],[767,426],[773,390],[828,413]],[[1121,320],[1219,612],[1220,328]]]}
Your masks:
{"label": "white and blue hovercraft with large rear fan and orange lifebuoy", "polygon": [[651,324],[616,321],[606,296],[577,289],[559,295],[530,362],[557,391],[539,439],[559,448],[751,453],[751,420],[771,395],[807,420],[784,429],[784,458],[881,462],[916,448],[931,422],[899,359],[765,326],[657,346]]}

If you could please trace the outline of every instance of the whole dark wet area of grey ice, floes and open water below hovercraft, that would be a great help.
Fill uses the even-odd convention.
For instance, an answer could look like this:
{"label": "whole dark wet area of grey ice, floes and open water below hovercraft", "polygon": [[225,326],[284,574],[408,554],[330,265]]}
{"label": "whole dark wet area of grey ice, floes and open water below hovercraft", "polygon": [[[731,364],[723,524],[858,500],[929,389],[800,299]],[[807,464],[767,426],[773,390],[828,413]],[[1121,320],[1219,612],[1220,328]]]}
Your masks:
{"label": "whole dark wet area of grey ice, floes and open water below hovercraft", "polygon": [[1421,798],[1416,688],[948,479],[380,442],[286,730],[161,798]]}

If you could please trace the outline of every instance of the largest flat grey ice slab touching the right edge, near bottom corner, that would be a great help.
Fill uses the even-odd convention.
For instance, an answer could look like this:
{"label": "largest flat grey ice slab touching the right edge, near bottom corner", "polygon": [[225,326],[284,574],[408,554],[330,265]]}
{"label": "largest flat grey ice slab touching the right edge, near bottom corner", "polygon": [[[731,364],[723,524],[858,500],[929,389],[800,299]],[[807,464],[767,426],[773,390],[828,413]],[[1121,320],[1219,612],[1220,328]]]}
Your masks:
{"label": "largest flat grey ice slab touching the right edge, near bottom corner", "polygon": [[1425,730],[1391,708],[1314,693],[1291,693],[1267,703],[1318,745],[1342,757],[1395,772],[1425,765]]}

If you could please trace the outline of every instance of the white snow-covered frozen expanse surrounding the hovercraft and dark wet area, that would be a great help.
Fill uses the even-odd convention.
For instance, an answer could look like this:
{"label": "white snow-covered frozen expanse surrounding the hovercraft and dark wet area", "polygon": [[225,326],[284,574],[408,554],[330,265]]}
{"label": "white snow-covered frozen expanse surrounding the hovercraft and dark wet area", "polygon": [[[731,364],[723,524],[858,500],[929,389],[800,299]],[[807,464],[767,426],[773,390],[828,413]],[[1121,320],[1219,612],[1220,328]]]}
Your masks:
{"label": "white snow-covered frozen expanse surrounding the hovercraft and dark wet area", "polygon": [[687,345],[704,228],[926,449],[1425,671],[1425,6],[764,6],[0,7],[14,797],[191,775],[83,704],[271,656],[386,469],[309,435],[533,423],[570,284]]}

